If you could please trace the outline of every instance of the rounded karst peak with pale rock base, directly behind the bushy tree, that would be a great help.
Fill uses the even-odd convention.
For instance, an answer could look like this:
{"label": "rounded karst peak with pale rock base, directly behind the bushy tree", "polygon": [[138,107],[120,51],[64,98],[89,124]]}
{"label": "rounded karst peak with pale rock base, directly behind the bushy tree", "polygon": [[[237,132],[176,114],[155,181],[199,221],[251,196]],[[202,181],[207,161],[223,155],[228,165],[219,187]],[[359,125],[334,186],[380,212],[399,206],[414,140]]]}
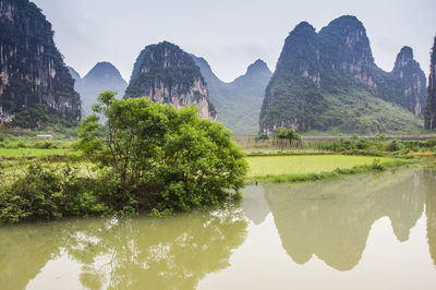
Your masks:
{"label": "rounded karst peak with pale rock base, directly behind the bushy tree", "polygon": [[194,104],[202,118],[216,119],[199,68],[189,53],[167,41],[147,46],[133,67],[124,98],[144,96],[177,108]]}

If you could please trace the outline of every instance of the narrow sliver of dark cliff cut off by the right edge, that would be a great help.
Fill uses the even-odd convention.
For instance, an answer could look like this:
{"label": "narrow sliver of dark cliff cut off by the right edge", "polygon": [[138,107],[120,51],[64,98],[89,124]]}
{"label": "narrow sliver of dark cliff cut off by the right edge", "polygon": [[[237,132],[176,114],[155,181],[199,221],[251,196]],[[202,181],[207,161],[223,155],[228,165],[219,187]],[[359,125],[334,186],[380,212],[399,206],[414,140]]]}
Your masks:
{"label": "narrow sliver of dark cliff cut off by the right edge", "polygon": [[432,48],[428,92],[425,107],[425,129],[436,129],[436,37]]}

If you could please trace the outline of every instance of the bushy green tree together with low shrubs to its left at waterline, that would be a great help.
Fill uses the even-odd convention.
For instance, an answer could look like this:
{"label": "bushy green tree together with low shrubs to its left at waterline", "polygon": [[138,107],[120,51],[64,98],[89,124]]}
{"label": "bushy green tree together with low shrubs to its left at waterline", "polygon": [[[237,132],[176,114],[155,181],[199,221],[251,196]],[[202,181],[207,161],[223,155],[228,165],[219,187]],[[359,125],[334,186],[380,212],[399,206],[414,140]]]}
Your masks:
{"label": "bushy green tree together with low shrubs to its left at waterline", "polygon": [[119,100],[112,92],[98,99],[94,109],[107,125],[96,114],[86,117],[75,144],[97,170],[81,174],[69,165],[29,165],[2,184],[1,219],[167,215],[240,196],[247,165],[220,123],[199,119],[193,106]]}

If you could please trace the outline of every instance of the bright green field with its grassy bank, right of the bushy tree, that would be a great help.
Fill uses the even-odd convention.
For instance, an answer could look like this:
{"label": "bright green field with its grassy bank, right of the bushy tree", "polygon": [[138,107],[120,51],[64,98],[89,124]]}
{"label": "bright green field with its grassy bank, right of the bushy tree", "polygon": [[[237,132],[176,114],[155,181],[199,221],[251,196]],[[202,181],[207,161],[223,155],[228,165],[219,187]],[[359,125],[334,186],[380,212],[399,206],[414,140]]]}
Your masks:
{"label": "bright green field with its grassy bank, right of the bushy tree", "polygon": [[339,140],[239,141],[247,153],[251,182],[300,182],[384,171],[436,157],[436,138],[373,140],[353,135]]}

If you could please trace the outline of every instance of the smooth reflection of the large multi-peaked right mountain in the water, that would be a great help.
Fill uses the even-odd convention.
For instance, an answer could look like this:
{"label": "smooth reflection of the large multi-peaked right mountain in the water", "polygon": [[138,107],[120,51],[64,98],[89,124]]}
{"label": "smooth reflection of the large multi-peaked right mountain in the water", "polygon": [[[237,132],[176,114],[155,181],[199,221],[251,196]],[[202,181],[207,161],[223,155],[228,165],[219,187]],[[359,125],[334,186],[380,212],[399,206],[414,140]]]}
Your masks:
{"label": "smooth reflection of the large multi-peaked right mountain in the water", "polygon": [[315,254],[338,270],[358,265],[377,219],[389,217],[403,242],[424,210],[422,171],[264,188],[288,255],[304,264]]}

